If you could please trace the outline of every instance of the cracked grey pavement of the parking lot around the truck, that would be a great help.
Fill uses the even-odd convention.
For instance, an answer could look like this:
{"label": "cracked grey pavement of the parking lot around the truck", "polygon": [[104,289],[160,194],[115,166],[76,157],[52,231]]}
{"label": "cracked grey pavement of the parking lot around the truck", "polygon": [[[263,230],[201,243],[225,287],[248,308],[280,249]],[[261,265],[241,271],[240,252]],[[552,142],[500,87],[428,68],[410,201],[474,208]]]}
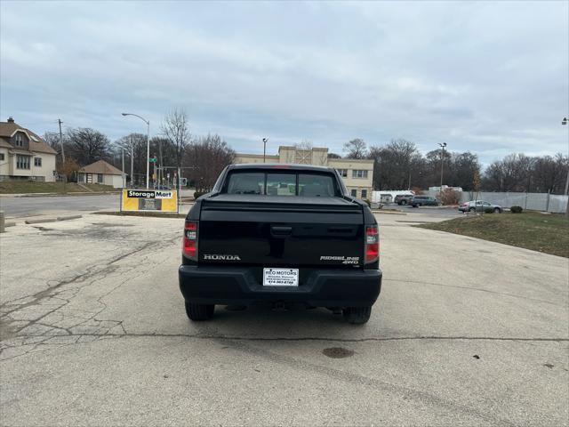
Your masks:
{"label": "cracked grey pavement of the parking lot around the truck", "polygon": [[0,238],[3,425],[567,424],[565,258],[379,214],[365,326],[216,308],[189,323],[183,220],[86,214]]}

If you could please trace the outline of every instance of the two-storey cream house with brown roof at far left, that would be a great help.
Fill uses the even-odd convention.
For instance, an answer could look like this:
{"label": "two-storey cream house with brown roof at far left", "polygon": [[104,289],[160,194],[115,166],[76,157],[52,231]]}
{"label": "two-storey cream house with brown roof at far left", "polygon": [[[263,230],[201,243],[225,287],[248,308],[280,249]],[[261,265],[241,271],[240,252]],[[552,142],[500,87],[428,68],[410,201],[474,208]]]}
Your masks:
{"label": "two-storey cream house with brown roof at far left", "polygon": [[55,181],[57,151],[12,117],[0,122],[0,181]]}

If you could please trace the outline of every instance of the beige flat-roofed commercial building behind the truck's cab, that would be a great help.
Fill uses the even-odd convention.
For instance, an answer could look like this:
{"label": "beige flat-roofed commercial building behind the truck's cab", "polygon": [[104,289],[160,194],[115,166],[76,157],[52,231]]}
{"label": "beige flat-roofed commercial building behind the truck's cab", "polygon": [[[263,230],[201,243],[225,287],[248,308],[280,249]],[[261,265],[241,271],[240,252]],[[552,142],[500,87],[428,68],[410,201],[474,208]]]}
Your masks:
{"label": "beige flat-roofed commercial building behind the truck's cab", "polygon": [[341,175],[353,197],[372,198],[373,160],[354,158],[328,158],[328,149],[299,149],[281,146],[277,155],[236,154],[235,163],[287,163],[330,166]]}

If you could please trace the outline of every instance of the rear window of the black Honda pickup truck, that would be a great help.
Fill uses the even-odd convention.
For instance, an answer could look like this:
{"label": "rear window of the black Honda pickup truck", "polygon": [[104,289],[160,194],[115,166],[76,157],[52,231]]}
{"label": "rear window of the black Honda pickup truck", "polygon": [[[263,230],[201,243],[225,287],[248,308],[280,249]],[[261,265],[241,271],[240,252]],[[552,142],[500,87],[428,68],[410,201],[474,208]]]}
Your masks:
{"label": "rear window of the black Honda pickup truck", "polygon": [[225,192],[285,197],[333,197],[338,194],[333,176],[325,173],[234,172],[229,174]]}

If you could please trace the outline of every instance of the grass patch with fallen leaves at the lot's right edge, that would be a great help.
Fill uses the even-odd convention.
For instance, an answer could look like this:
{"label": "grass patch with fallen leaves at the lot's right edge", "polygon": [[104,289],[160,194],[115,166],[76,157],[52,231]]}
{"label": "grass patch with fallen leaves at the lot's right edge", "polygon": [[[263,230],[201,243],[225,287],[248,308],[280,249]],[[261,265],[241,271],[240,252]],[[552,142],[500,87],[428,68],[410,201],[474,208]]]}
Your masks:
{"label": "grass patch with fallen leaves at the lot's right edge", "polygon": [[569,220],[563,214],[484,214],[415,225],[569,258]]}

